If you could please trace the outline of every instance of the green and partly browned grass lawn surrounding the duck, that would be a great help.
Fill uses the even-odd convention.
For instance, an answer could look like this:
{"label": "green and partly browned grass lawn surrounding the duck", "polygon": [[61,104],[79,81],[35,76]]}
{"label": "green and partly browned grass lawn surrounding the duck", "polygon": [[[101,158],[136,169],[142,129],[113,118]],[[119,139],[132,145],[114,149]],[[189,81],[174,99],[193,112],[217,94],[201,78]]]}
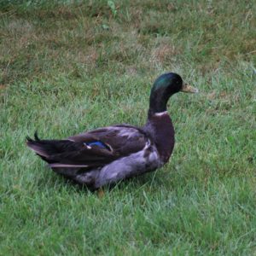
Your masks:
{"label": "green and partly browned grass lawn surrounding the duck", "polygon": [[[0,2],[1,255],[255,255],[253,1]],[[25,137],[143,125],[154,79],[176,147],[157,172],[90,193]]]}

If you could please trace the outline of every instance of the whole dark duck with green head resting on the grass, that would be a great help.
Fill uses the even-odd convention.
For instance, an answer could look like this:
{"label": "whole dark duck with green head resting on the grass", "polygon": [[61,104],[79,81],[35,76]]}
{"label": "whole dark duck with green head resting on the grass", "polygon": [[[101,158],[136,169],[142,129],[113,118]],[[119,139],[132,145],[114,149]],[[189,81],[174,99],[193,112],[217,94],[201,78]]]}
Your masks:
{"label": "whole dark duck with green head resting on the grass", "polygon": [[154,81],[142,127],[111,125],[65,139],[40,139],[35,132],[26,145],[54,172],[91,190],[153,172],[172,155],[175,131],[167,102],[179,91],[198,92],[177,73],[164,73]]}

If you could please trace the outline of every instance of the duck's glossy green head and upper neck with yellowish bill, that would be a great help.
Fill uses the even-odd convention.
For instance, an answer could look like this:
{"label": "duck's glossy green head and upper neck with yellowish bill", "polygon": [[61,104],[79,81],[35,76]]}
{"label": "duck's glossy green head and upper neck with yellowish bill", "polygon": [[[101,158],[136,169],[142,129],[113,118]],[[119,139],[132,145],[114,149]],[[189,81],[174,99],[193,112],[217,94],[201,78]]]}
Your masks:
{"label": "duck's glossy green head and upper neck with yellowish bill", "polygon": [[183,79],[177,73],[164,73],[154,81],[151,89],[149,111],[151,113],[161,113],[166,111],[169,98],[179,92],[198,92],[189,84],[183,83]]}

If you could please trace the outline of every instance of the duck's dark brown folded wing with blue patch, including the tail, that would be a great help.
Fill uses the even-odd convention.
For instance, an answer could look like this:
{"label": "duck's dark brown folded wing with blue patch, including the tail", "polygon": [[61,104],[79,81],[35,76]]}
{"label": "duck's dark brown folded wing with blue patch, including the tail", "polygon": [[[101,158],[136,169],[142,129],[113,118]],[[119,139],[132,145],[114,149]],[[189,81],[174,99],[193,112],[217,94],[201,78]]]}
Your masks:
{"label": "duck's dark brown folded wing with blue patch, including the tail", "polygon": [[113,160],[142,150],[148,137],[139,128],[114,125],[85,132],[66,140],[27,138],[32,148],[51,167],[104,166]]}

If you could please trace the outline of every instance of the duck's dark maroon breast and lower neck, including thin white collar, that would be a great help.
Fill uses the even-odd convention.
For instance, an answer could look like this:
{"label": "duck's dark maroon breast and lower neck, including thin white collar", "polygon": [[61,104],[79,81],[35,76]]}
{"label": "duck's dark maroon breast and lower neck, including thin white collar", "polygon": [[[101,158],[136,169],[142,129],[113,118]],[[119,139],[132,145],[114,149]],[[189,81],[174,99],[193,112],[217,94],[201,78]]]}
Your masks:
{"label": "duck's dark maroon breast and lower neck, including thin white collar", "polygon": [[174,147],[174,128],[167,111],[155,113],[149,109],[144,130],[150,134],[160,154],[160,159],[166,163]]}

